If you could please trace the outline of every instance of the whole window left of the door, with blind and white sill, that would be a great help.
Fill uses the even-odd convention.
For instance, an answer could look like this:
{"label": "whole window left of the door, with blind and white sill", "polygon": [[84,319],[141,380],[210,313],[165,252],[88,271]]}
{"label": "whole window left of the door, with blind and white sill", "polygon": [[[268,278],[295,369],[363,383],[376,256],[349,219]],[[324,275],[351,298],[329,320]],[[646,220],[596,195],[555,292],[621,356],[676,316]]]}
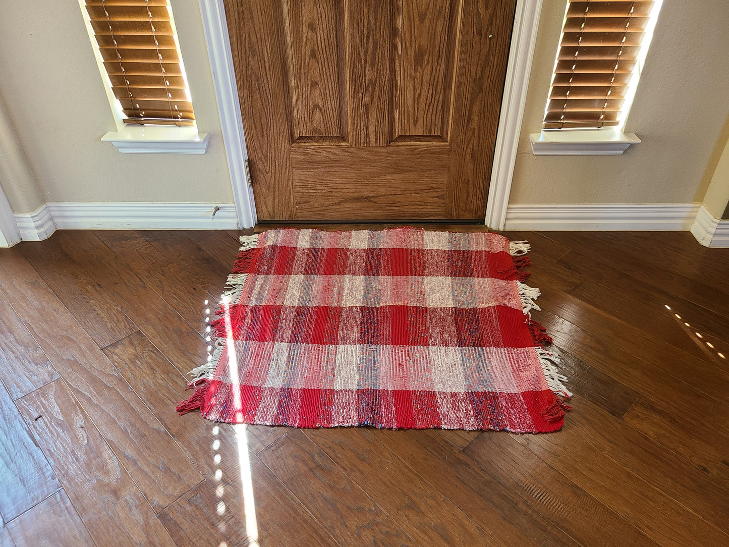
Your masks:
{"label": "whole window left of the door, with blind and white sill", "polygon": [[200,138],[195,126],[169,1],[79,4],[119,129],[102,141],[122,152],[205,152],[207,136]]}

